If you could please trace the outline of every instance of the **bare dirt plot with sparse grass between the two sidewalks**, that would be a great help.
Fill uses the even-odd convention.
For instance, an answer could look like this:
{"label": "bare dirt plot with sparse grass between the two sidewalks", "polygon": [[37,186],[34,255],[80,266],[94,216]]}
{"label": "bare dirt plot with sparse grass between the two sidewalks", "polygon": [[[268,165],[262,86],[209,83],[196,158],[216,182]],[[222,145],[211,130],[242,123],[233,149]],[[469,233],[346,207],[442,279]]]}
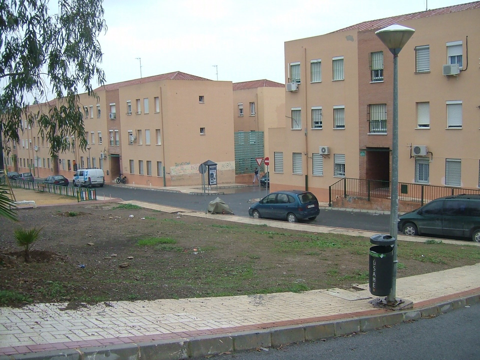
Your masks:
{"label": "bare dirt plot with sparse grass between the two sidewalks", "polygon": [[[0,218],[0,304],[154,300],[351,288],[368,282],[363,237],[81,203]],[[67,213],[81,216],[65,216]],[[130,217],[130,216],[133,217]],[[13,230],[43,227],[24,263]],[[480,261],[480,249],[400,242],[398,276]],[[127,264],[121,267],[120,264]]]}

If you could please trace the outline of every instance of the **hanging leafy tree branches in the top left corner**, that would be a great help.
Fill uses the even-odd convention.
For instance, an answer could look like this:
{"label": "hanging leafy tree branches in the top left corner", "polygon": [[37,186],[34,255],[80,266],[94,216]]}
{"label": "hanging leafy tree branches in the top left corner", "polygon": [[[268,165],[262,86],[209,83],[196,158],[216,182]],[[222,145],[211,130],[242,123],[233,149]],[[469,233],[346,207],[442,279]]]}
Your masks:
{"label": "hanging leafy tree branches in the top left corner", "polygon": [[[59,0],[58,9],[49,9],[53,1],[0,0],[0,119],[7,154],[9,142],[19,141],[22,120],[38,124],[51,156],[68,150],[67,136],[86,148],[77,94],[96,96],[92,80],[105,81],[98,67],[97,36],[107,30],[102,2]],[[47,96],[56,100],[46,102]],[[45,102],[30,108],[33,98]]]}

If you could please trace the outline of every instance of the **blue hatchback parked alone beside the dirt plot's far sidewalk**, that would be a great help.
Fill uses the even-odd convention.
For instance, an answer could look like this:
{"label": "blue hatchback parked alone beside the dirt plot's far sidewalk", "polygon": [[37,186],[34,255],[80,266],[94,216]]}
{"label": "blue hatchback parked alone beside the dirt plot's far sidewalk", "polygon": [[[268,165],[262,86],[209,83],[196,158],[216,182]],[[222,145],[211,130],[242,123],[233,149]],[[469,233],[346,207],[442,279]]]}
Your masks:
{"label": "blue hatchback parked alone beside the dirt plot's far sidewalk", "polygon": [[311,192],[301,190],[277,191],[265,196],[248,209],[248,214],[255,218],[288,220],[313,220],[318,214],[318,200]]}

